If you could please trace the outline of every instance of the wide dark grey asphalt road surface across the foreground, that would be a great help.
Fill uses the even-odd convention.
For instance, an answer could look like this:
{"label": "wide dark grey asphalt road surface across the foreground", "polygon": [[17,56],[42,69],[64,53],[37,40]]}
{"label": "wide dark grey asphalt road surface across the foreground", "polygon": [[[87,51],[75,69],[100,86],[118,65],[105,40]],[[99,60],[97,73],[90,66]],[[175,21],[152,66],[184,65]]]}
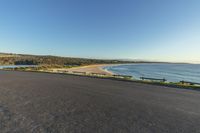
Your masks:
{"label": "wide dark grey asphalt road surface across the foreground", "polygon": [[200,91],[0,71],[0,133],[200,133]]}

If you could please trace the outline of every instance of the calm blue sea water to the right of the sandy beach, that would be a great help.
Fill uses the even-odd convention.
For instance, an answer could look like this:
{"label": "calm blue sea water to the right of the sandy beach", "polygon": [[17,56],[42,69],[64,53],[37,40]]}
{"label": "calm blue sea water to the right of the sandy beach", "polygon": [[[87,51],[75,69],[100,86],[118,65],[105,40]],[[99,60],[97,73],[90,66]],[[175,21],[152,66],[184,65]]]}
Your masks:
{"label": "calm blue sea water to the right of the sandy beach", "polygon": [[169,82],[181,80],[200,83],[200,64],[161,64],[143,63],[107,66],[104,69],[120,75],[140,77],[165,78]]}

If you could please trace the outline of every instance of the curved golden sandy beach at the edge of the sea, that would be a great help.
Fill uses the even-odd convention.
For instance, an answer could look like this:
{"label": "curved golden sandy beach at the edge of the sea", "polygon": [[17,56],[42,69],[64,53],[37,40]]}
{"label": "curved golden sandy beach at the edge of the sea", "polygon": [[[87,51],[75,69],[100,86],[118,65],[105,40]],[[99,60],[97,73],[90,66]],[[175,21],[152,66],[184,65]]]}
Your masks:
{"label": "curved golden sandy beach at the edge of the sea", "polygon": [[107,75],[112,76],[113,73],[104,70],[102,67],[109,66],[111,64],[96,64],[96,65],[88,65],[88,66],[81,66],[81,67],[74,67],[74,68],[61,68],[61,69],[53,69],[54,72],[56,71],[66,71],[69,73],[73,72],[81,72],[86,74],[100,74],[100,75]]}

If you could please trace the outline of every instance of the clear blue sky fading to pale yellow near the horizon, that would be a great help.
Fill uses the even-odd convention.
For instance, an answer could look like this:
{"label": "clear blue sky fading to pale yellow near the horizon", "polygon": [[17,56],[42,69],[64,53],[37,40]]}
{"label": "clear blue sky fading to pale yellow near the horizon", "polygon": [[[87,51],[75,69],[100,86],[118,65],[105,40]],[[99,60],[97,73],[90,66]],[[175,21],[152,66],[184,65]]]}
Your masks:
{"label": "clear blue sky fading to pale yellow near the horizon", "polygon": [[200,63],[200,0],[0,0],[0,52]]}

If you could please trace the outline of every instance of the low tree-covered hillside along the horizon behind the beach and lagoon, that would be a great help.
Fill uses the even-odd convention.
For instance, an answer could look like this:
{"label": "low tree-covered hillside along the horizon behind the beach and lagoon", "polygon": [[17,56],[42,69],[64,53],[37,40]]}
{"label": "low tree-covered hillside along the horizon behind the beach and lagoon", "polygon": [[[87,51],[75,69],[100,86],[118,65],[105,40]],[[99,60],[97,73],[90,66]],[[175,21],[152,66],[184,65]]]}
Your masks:
{"label": "low tree-covered hillside along the horizon behind the beach and lagoon", "polygon": [[133,63],[120,60],[98,60],[86,58],[70,58],[57,56],[35,56],[19,54],[0,53],[0,65],[60,65],[60,66],[81,66],[90,64],[116,64]]}

